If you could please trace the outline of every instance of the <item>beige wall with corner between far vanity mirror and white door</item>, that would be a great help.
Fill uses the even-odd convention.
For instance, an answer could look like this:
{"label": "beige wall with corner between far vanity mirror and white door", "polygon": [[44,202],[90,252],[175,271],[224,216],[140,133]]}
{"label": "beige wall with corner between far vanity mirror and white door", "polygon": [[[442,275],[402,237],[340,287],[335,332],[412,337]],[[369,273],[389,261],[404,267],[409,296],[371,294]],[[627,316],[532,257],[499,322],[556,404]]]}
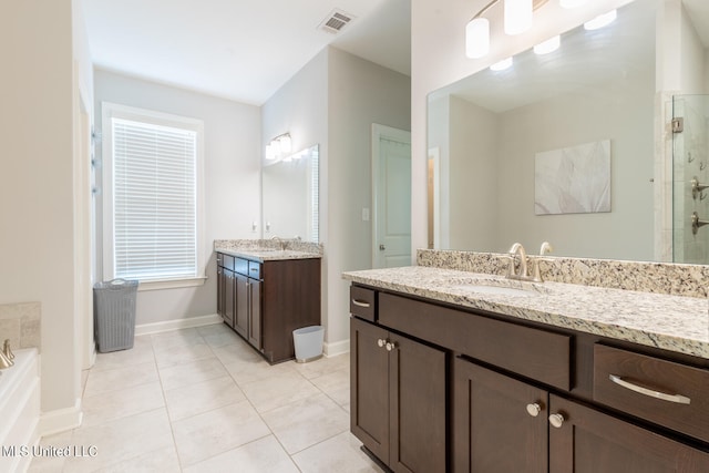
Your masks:
{"label": "beige wall with corner between far vanity mirror and white door", "polygon": [[409,130],[409,78],[335,48],[320,52],[264,105],[266,142],[290,132],[294,148],[320,144],[322,323],[331,352],[347,348],[345,270],[371,265],[371,125]]}

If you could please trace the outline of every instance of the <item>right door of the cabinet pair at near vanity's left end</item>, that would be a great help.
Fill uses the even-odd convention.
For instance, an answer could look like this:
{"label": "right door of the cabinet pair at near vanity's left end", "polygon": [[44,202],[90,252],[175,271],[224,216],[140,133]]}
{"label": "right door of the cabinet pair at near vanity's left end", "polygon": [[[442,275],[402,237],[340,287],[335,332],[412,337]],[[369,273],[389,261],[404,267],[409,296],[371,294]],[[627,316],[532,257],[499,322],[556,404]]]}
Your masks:
{"label": "right door of the cabinet pair at near vanity's left end", "polygon": [[393,333],[389,342],[389,465],[397,472],[444,472],[445,352]]}

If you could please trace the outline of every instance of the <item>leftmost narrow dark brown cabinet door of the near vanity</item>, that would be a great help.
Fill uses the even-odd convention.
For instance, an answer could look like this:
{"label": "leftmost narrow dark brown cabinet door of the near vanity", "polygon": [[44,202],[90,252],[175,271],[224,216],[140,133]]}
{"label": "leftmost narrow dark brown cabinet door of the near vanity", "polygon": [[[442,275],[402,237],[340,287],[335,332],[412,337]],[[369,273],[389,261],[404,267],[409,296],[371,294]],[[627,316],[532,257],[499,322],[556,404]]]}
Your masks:
{"label": "leftmost narrow dark brown cabinet door of the near vanity", "polygon": [[379,460],[389,463],[389,353],[383,348],[386,340],[386,330],[350,319],[350,429]]}

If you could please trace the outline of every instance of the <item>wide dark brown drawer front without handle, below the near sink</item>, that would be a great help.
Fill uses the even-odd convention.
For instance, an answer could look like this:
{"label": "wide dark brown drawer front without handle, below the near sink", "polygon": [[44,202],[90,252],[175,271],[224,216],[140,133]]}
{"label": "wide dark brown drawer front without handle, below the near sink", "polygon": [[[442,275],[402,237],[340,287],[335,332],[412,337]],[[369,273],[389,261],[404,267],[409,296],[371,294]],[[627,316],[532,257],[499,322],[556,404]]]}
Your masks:
{"label": "wide dark brown drawer front without handle, below the near sink", "polygon": [[449,309],[390,294],[379,295],[379,323],[532,378],[571,389],[572,337]]}

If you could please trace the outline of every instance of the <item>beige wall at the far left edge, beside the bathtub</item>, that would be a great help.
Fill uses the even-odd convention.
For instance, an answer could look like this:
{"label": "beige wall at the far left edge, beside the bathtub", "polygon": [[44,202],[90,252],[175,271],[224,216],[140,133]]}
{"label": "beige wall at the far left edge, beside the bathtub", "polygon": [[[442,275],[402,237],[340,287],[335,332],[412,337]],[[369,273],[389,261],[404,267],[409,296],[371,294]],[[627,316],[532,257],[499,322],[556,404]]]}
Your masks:
{"label": "beige wall at the far left edge, beside the bathtub", "polygon": [[86,216],[75,212],[73,166],[79,88],[90,96],[91,78],[72,7],[72,0],[0,3],[0,304],[41,304],[49,429],[80,419],[74,219]]}

